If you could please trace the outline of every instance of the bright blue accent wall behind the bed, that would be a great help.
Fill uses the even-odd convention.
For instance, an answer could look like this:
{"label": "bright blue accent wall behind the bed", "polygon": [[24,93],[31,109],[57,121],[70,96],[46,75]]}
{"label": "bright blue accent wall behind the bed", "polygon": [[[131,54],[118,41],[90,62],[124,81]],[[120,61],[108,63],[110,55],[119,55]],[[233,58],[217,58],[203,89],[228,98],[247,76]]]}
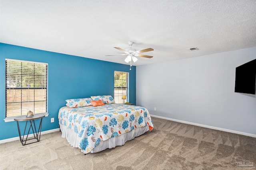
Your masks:
{"label": "bright blue accent wall behind the bed", "polygon": [[[16,121],[5,119],[5,59],[48,63],[48,117],[42,131],[58,128],[58,111],[67,99],[96,95],[114,97],[114,71],[129,72],[130,103],[136,104],[136,66],[53,53],[0,43],[0,140],[18,137]],[[50,119],[54,117],[54,123]],[[36,120],[36,123],[39,123]],[[25,122],[20,122],[23,133]]]}

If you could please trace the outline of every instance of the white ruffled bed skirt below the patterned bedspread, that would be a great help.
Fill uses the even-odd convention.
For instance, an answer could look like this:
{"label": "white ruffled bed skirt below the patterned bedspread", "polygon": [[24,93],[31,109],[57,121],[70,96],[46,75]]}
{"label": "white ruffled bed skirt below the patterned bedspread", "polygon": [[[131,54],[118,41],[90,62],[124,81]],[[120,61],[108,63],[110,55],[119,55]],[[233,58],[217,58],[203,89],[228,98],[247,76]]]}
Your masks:
{"label": "white ruffled bed skirt below the patterned bedspread", "polygon": [[[62,131],[61,137],[66,138],[68,143],[71,146],[81,149],[79,146],[81,137],[78,137],[78,133],[74,133],[74,131],[66,128],[66,126],[62,125],[62,124],[60,124],[60,130]],[[149,126],[139,127],[130,132],[124,133],[120,136],[110,138],[106,141],[100,141],[100,144],[97,147],[95,147],[93,150],[91,150],[91,153],[100,152],[107,148],[111,149],[116,146],[124,145],[124,143],[126,143],[127,141],[130,141],[130,140],[134,139],[135,137],[138,137],[138,136],[146,133],[146,131],[149,131]],[[81,151],[82,151],[82,149],[81,149]]]}

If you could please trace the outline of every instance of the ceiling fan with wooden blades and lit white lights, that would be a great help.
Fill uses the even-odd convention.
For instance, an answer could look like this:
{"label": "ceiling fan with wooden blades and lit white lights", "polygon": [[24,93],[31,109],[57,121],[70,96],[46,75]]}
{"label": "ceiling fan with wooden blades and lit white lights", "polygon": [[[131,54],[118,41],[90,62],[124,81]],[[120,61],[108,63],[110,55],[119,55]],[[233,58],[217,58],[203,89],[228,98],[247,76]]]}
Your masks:
{"label": "ceiling fan with wooden blades and lit white lights", "polygon": [[[149,59],[153,57],[153,56],[150,56],[150,55],[142,55],[140,53],[145,53],[145,52],[148,52],[148,51],[154,51],[154,49],[152,49],[152,48],[136,51],[136,49],[132,48],[133,43],[134,43],[133,41],[129,41],[128,45],[130,45],[130,48],[125,49],[125,50],[121,49],[119,47],[114,47],[115,49],[118,49],[118,50],[123,51],[125,53],[125,54],[114,54],[114,55],[127,55],[127,57],[124,61],[126,63],[130,62],[130,70],[131,70],[131,66],[132,66],[132,61],[135,63],[138,60],[136,57],[146,57],[146,58],[149,58]],[[113,56],[113,55],[105,55],[105,56]]]}

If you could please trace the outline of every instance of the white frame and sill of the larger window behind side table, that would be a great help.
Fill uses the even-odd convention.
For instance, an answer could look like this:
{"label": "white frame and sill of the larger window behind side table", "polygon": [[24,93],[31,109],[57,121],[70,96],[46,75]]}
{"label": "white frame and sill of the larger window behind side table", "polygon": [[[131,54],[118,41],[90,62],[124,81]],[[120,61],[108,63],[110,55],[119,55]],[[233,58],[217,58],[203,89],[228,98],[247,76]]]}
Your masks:
{"label": "white frame and sill of the larger window behind side table", "polygon": [[[43,80],[45,80],[46,81],[46,83],[44,84],[46,87],[33,87],[33,88],[30,88],[30,86],[28,86],[28,87],[11,87],[10,86],[10,81],[9,81],[9,84],[8,84],[8,71],[7,71],[7,69],[11,69],[10,68],[10,65],[9,65],[9,67],[8,67],[8,62],[18,62],[18,63],[20,63],[20,65],[22,65],[22,63],[26,63],[26,64],[42,64],[42,65],[45,65],[45,69],[46,69],[46,76],[44,77],[44,79]],[[14,116],[8,116],[8,113],[7,113],[7,105],[8,104],[13,104],[13,103],[15,103],[15,102],[13,102],[13,103],[8,103],[7,102],[7,92],[8,92],[8,90],[24,90],[24,91],[26,91],[27,90],[27,93],[30,93],[30,90],[32,90],[32,92],[34,91],[34,92],[37,92],[37,90],[40,90],[40,89],[45,89],[45,98],[46,98],[46,100],[45,100],[45,104],[46,104],[46,106],[45,106],[45,111],[46,112],[43,112],[43,113],[34,113],[34,114],[44,114],[46,117],[49,115],[48,114],[48,63],[41,63],[41,62],[34,62],[34,61],[24,61],[24,60],[16,60],[16,59],[5,59],[5,71],[6,71],[6,73],[5,73],[5,119],[4,119],[4,121],[5,122],[9,122],[9,121],[14,121],[14,118],[15,117],[18,117],[18,116],[20,116],[20,115],[24,115],[24,113],[22,114],[22,101],[20,101],[20,102],[17,102],[17,103],[20,103],[21,104],[21,112],[20,112],[20,115],[14,115]],[[36,70],[36,68],[34,68],[34,71]],[[13,74],[13,73],[12,73]],[[10,76],[11,74],[10,74],[10,72],[9,72],[9,76]],[[20,80],[23,80],[22,79],[22,75],[25,75],[25,74],[20,74],[20,76],[21,76],[21,78],[20,78]],[[34,76],[36,76],[35,74],[34,74]],[[32,81],[33,83],[35,83],[36,81],[34,80],[34,81]],[[22,94],[21,94],[21,96],[22,96]],[[28,98],[28,102],[33,102],[33,103],[35,103],[35,102],[38,102],[37,100],[36,100],[36,97],[38,97],[38,96],[33,96],[32,97],[32,99],[33,100],[30,100],[30,98]],[[30,101],[29,101],[30,100]],[[44,106],[44,105],[43,105]],[[31,106],[30,106],[31,107]],[[43,107],[44,108],[44,107]],[[33,109],[36,109],[36,106],[34,105],[33,106]],[[35,112],[35,111],[34,111]]]}

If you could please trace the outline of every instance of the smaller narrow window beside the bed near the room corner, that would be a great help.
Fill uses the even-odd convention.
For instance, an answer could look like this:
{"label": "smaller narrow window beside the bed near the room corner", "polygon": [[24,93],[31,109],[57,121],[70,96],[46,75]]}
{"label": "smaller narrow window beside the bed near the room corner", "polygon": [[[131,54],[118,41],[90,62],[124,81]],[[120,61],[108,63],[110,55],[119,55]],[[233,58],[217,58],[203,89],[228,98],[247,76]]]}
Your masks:
{"label": "smaller narrow window beside the bed near the room corner", "polygon": [[[114,76],[114,99],[115,103],[128,102],[128,72],[115,71]],[[122,96],[126,96],[126,100],[122,100]]]}

